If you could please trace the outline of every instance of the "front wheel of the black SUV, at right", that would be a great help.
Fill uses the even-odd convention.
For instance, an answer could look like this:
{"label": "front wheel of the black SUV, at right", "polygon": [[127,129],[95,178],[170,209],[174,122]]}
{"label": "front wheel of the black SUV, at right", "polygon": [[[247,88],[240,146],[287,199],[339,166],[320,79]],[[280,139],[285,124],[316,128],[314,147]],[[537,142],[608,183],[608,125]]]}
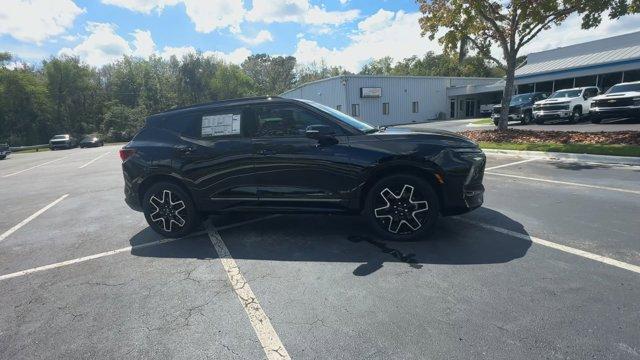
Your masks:
{"label": "front wheel of the black SUV, at right", "polygon": [[392,241],[427,238],[439,214],[438,196],[431,185],[404,174],[385,177],[373,185],[363,212],[373,230]]}

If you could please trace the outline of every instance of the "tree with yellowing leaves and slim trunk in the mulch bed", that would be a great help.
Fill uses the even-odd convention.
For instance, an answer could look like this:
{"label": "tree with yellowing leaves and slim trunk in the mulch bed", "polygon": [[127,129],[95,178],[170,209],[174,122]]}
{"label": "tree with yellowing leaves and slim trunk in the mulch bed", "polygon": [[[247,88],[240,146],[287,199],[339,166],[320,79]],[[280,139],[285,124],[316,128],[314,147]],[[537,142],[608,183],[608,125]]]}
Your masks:
{"label": "tree with yellowing leaves and slim trunk in the mulch bed", "polygon": [[[498,129],[507,128],[509,103],[520,50],[540,32],[561,24],[572,14],[582,16],[582,27],[596,27],[607,12],[612,19],[640,11],[638,0],[417,0],[422,34],[439,41],[446,53],[466,42],[487,60],[504,67],[505,89]],[[491,53],[497,45],[500,56]]]}

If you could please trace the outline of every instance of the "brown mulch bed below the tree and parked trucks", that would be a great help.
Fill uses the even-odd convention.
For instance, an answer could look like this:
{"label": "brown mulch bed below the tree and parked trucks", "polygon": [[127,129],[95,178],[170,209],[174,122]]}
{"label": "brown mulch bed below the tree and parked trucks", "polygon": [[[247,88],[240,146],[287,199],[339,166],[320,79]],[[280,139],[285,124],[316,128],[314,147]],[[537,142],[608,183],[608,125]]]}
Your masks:
{"label": "brown mulch bed below the tree and parked trucks", "polygon": [[640,131],[578,132],[578,131],[536,131],[508,129],[462,131],[462,135],[474,141],[510,142],[518,144],[621,144],[640,146]]}

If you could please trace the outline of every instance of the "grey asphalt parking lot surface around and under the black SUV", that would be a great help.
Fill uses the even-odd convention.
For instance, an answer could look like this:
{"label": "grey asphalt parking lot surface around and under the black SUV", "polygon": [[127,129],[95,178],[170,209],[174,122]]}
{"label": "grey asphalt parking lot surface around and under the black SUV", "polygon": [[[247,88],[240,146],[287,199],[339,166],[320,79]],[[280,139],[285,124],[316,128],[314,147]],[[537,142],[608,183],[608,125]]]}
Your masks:
{"label": "grey asphalt parking lot surface around and under the black SUV", "polygon": [[488,156],[429,239],[218,216],[161,241],[118,147],[0,161],[0,358],[640,359],[640,168]]}

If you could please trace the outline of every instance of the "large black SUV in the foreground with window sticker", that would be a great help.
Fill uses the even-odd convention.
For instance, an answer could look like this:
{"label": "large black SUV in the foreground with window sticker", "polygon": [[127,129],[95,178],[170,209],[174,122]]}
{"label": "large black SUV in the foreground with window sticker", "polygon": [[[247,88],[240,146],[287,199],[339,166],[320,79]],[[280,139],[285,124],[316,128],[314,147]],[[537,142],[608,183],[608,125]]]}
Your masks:
{"label": "large black SUV in the foreground with window sticker", "polygon": [[150,116],[120,150],[127,204],[180,237],[203,213],[363,214],[380,235],[424,236],[482,205],[485,156],[444,131],[374,128],[306,100],[227,100]]}

